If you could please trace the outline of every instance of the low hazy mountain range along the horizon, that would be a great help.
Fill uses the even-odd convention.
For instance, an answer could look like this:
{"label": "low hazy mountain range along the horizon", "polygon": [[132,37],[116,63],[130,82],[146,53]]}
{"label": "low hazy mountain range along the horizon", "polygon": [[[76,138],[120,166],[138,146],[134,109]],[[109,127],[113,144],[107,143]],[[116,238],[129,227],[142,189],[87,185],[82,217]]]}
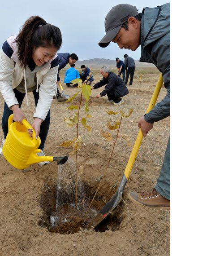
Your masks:
{"label": "low hazy mountain range along the horizon", "polygon": [[[134,62],[136,67],[155,67],[155,65],[151,63],[139,62],[136,60]],[[84,61],[78,60],[76,62],[76,68],[80,68],[81,65],[85,65],[88,67],[101,67],[101,66],[116,67],[116,60],[99,59],[99,58],[94,58],[94,59],[84,60]]]}

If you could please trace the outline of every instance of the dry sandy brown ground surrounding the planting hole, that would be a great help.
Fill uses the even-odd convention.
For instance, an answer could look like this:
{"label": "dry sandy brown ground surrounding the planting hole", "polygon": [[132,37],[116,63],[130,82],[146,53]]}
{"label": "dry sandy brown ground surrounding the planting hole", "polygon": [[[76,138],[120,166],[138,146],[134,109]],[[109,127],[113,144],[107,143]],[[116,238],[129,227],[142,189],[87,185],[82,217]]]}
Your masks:
{"label": "dry sandy brown ground surrounding the planting hole", "polygon": [[[114,69],[115,70],[115,69]],[[94,85],[102,76],[98,69],[92,70]],[[139,76],[142,74],[140,83]],[[61,81],[65,70],[60,71]],[[108,121],[120,117],[108,115],[106,110],[125,115],[133,108],[134,112],[122,120],[120,135],[129,136],[134,145],[138,135],[138,120],[145,114],[151,95],[159,78],[155,68],[137,68],[129,94],[123,99],[124,104],[115,106],[107,103],[107,97],[96,98],[103,88],[92,90],[88,102],[91,118],[88,132],[79,125],[82,137],[82,149],[78,152],[78,166],[82,166],[82,180],[86,198],[92,199],[96,188],[102,180],[108,164],[113,143],[101,137],[100,130],[110,132],[113,139],[116,130],[107,128]],[[62,83],[64,91],[73,96],[79,89],[68,88]],[[158,102],[166,95],[164,86]],[[35,110],[33,94],[28,94],[30,107],[24,100],[22,111],[32,124]],[[52,101],[51,124],[45,143],[44,153],[50,156],[64,156],[72,152],[72,147],[59,146],[64,141],[76,137],[76,128],[65,126],[65,117],[73,117],[76,110],[66,109],[77,105],[80,94],[73,102]],[[85,100],[81,104],[81,117],[85,117]],[[4,99],[0,95],[0,114],[3,114]],[[116,209],[98,228],[87,228],[82,218],[76,216],[73,221],[63,224],[60,229],[51,229],[50,215],[56,205],[56,185],[58,166],[56,162],[40,167],[37,163],[25,170],[19,170],[0,156],[0,255],[2,256],[167,256],[170,254],[170,209],[151,208],[136,205],[129,201],[130,191],[146,192],[151,190],[157,181],[163,163],[164,152],[170,134],[170,118],[154,124],[154,128],[144,137],[138,150],[129,180],[125,186],[123,199]],[[0,138],[3,132],[0,131]],[[102,182],[102,188],[95,199],[96,212],[116,193],[117,187],[128,162],[132,146],[119,137],[108,170]],[[75,161],[75,154],[69,154]],[[86,199],[87,200],[87,199]],[[91,217],[91,216],[90,216]],[[76,223],[77,225],[72,225]],[[68,224],[68,225],[66,225]],[[70,225],[70,227],[69,227]]]}

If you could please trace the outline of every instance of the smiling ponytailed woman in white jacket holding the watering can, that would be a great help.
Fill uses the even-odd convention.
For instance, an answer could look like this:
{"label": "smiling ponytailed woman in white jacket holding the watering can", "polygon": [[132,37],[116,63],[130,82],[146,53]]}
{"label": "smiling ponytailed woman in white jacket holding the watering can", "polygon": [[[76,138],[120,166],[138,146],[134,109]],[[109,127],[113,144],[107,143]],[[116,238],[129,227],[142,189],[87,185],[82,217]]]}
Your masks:
{"label": "smiling ponytailed woman in white jacket holding the watering can", "polygon": [[[36,110],[32,127],[39,136],[41,144],[39,156],[43,156],[44,143],[50,126],[50,106],[57,82],[58,57],[57,50],[62,44],[60,29],[48,24],[38,16],[30,17],[22,26],[18,35],[10,36],[0,50],[0,91],[4,97],[2,129],[4,140],[8,133],[8,119],[22,124],[26,115],[21,105],[27,93],[32,92]],[[26,119],[27,120],[27,119]],[[28,129],[32,137],[33,129]],[[39,165],[49,163],[41,162]]]}

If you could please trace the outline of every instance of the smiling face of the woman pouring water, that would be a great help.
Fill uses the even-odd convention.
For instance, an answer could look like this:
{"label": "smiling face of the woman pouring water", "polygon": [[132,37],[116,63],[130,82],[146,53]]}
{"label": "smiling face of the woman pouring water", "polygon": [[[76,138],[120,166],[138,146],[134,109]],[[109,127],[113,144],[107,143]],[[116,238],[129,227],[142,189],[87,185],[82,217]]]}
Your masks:
{"label": "smiling face of the woman pouring water", "polygon": [[42,66],[46,62],[52,60],[56,55],[57,50],[55,47],[38,47],[34,48],[32,58],[37,66]]}

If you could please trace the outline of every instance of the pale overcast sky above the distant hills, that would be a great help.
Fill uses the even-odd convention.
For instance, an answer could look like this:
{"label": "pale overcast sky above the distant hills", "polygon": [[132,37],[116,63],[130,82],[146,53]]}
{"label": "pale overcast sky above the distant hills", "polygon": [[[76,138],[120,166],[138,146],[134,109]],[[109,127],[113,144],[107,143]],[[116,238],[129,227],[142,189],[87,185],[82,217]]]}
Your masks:
{"label": "pale overcast sky above the distant hills", "polygon": [[76,53],[80,60],[92,58],[115,59],[127,53],[135,60],[140,58],[140,47],[131,50],[120,49],[111,43],[106,48],[98,43],[105,35],[104,19],[116,4],[132,4],[142,12],[144,7],[156,7],[169,0],[129,0],[129,1],[75,1],[75,0],[9,0],[1,1],[0,45],[10,35],[16,35],[23,23],[32,15],[38,15],[48,23],[58,26],[62,33],[60,53]]}

